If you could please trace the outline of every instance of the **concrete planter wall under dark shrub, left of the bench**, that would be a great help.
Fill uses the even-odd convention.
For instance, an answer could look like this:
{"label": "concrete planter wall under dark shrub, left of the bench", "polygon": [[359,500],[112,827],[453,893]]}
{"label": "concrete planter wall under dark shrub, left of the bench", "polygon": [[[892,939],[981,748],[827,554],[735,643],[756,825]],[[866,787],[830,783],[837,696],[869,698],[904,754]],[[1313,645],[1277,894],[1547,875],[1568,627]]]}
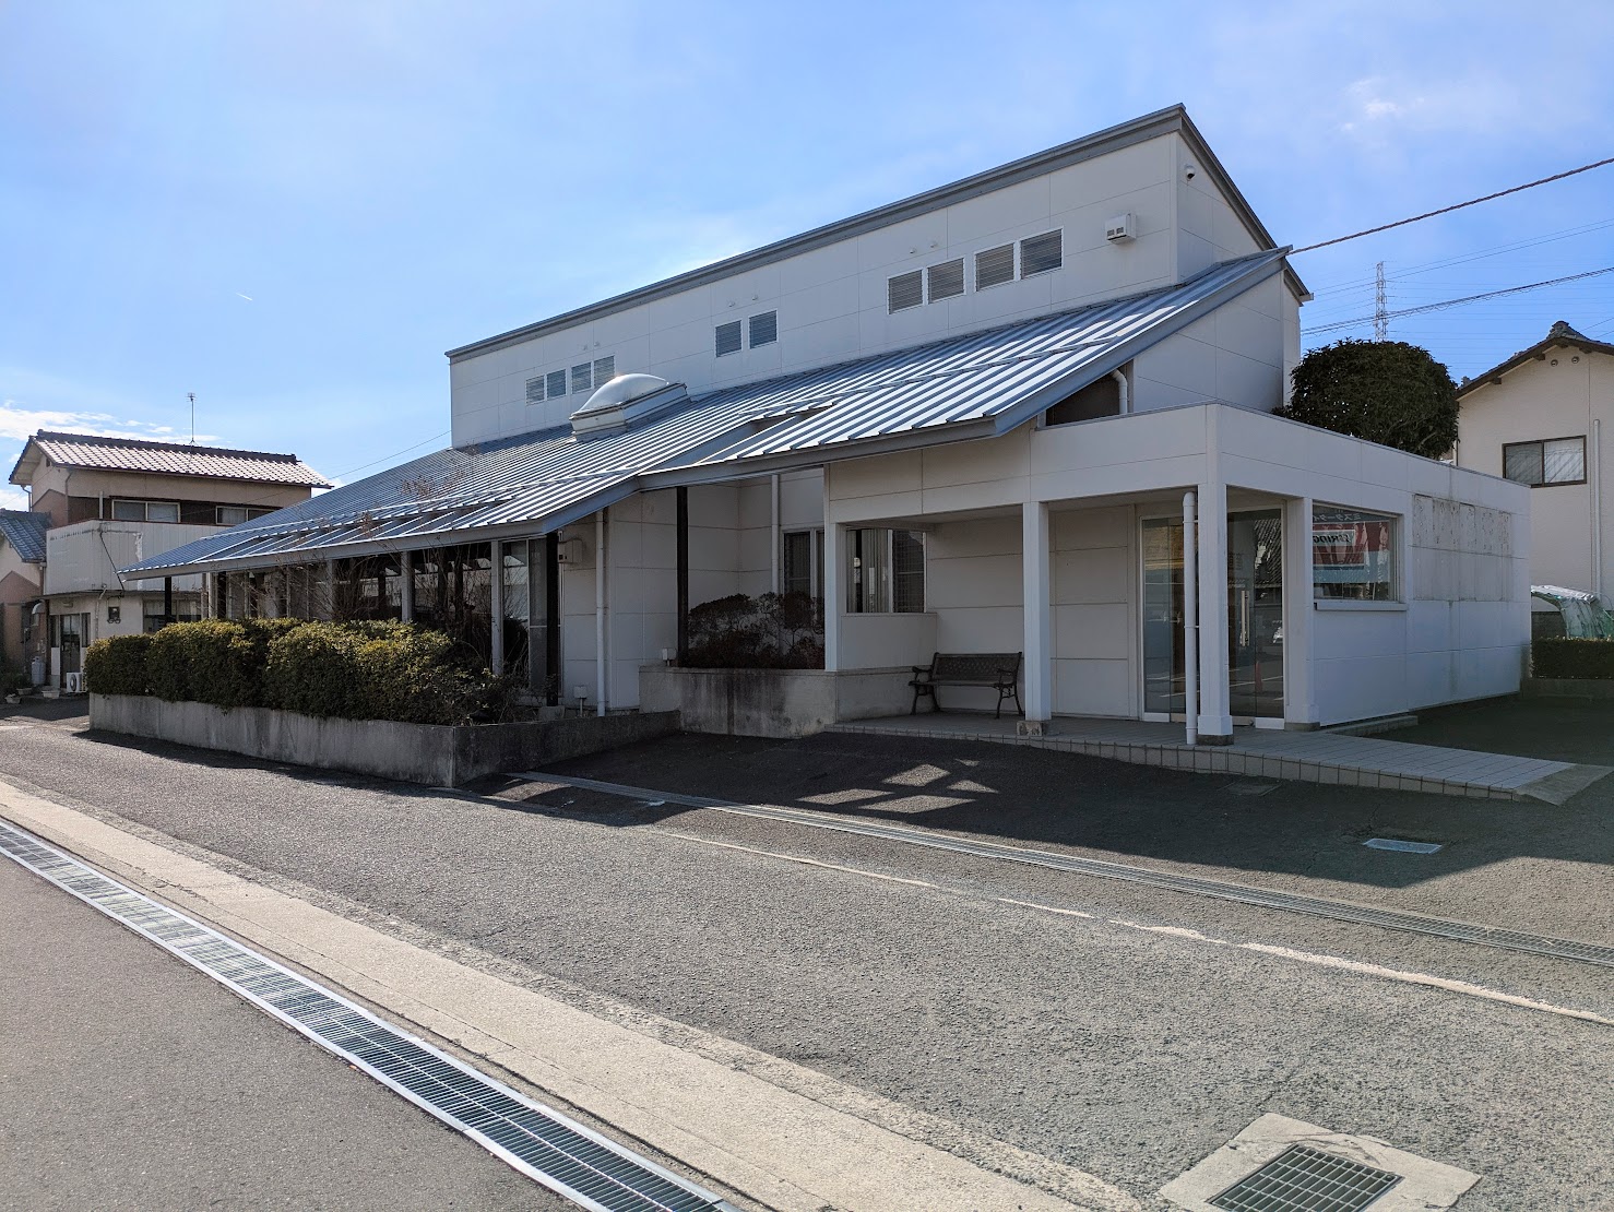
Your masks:
{"label": "concrete planter wall under dark shrub, left of the bench", "polygon": [[838,720],[909,710],[912,670],[639,670],[639,705],[678,712],[684,731],[730,736],[809,736]]}

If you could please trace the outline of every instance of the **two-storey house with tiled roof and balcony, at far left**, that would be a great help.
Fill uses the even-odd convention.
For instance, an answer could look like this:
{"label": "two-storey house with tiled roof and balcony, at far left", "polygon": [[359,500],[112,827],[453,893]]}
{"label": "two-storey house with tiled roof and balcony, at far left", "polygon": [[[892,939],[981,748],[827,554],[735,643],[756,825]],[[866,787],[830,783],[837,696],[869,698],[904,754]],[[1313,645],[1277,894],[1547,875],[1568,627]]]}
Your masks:
{"label": "two-storey house with tiled roof and balcony, at far left", "polygon": [[82,670],[84,649],[102,636],[208,613],[203,578],[132,579],[119,568],[326,487],[295,455],[50,431],[27,439],[11,483],[45,518],[44,652],[32,655],[45,658],[53,686]]}

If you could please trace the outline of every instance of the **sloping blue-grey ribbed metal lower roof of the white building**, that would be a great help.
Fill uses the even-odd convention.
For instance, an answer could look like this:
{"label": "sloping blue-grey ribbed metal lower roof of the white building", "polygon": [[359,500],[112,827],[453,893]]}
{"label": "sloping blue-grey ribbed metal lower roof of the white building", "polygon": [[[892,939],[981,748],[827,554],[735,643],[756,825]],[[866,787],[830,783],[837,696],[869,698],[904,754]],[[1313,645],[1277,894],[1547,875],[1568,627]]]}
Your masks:
{"label": "sloping blue-grey ribbed metal lower roof of the white building", "polygon": [[[431,545],[449,534],[557,529],[631,495],[641,478],[710,468],[730,478],[778,455],[823,460],[839,447],[988,423],[1020,424],[1282,268],[1267,252],[1133,299],[857,358],[696,397],[649,424],[579,441],[570,426],[439,450],[265,518],[152,557],[126,573],[195,570],[370,544]],[[463,539],[460,539],[463,541]]]}

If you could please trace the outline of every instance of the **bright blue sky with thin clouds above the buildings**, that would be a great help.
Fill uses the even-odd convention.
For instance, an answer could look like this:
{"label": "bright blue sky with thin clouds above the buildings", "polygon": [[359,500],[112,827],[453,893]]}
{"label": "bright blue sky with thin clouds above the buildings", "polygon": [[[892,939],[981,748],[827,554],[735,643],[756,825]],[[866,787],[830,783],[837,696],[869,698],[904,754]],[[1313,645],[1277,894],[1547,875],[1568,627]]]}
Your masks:
{"label": "bright blue sky with thin clouds above the buildings", "polygon": [[[0,8],[0,463],[445,444],[442,350],[1185,102],[1306,245],[1614,155],[1614,5]],[[1614,166],[1296,268],[1302,326],[1614,266]],[[1393,321],[1454,376],[1614,274]],[[1370,326],[1351,334],[1370,336]],[[1332,341],[1341,334],[1319,337]],[[0,504],[19,504],[16,495]]]}

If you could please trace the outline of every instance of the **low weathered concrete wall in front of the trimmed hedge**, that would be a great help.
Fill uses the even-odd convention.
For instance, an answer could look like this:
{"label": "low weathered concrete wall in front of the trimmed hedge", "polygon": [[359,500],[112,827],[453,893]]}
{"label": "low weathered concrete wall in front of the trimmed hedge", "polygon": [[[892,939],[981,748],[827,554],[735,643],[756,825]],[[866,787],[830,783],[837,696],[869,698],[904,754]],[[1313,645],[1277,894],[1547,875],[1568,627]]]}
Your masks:
{"label": "low weathered concrete wall in front of the trimmed hedge", "polygon": [[316,720],[268,707],[226,712],[202,702],[123,694],[90,696],[90,728],[245,757],[457,788],[505,770],[529,770],[678,731],[678,715],[631,713],[542,723],[405,725]]}

